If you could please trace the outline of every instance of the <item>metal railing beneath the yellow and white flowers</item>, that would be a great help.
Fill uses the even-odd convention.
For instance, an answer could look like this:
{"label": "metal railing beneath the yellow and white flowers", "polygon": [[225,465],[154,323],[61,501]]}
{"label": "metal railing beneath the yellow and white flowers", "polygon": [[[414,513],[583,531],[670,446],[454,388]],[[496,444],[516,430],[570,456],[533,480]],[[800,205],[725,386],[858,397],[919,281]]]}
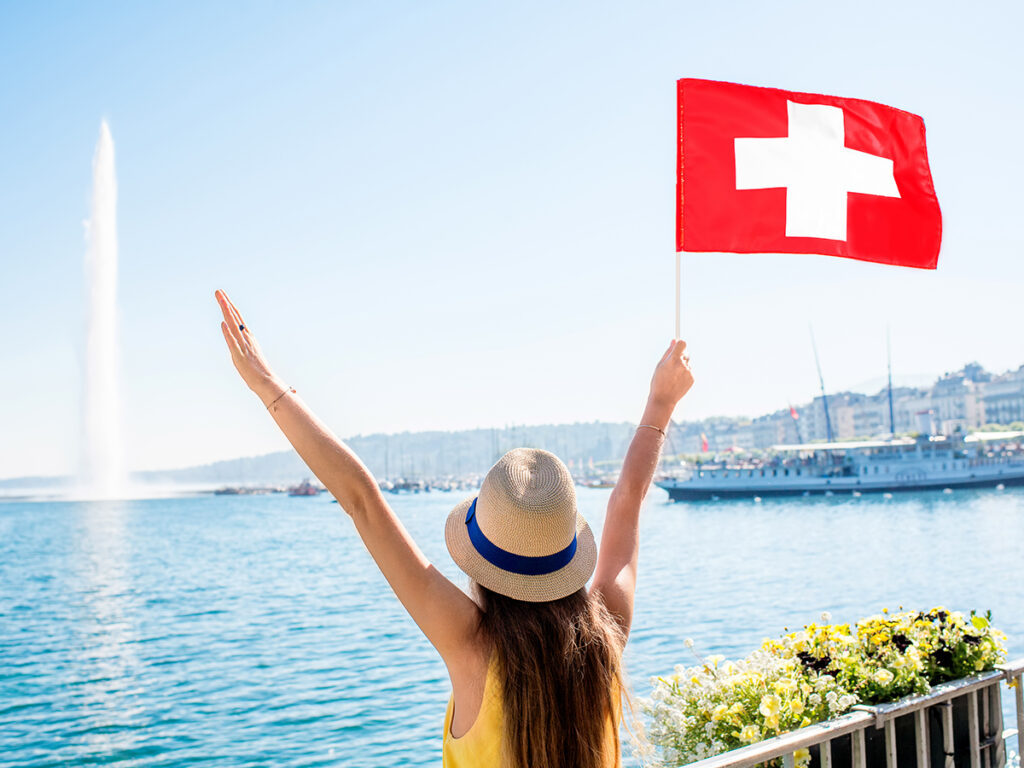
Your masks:
{"label": "metal railing beneath the yellow and white flowers", "polygon": [[[1024,753],[1024,658],[1000,666],[992,672],[984,672],[961,680],[936,685],[931,692],[922,696],[910,696],[892,703],[876,707],[857,706],[853,711],[823,723],[809,725],[788,733],[759,741],[749,746],[716,755],[712,758],[690,763],[687,768],[753,768],[769,760],[782,758],[784,768],[794,768],[794,753],[798,750],[815,749],[816,765],[820,768],[881,768],[878,759],[869,757],[868,741],[876,738],[871,731],[884,732],[886,768],[910,768],[911,763],[899,760],[909,752],[906,738],[897,732],[897,719],[912,717],[913,750],[916,768],[931,768],[942,765],[954,768],[955,757],[965,752],[969,756],[970,768],[1004,768],[1007,762],[1006,739],[1017,736],[1018,754]],[[1002,729],[1002,705],[999,686],[1001,683],[1016,682],[1017,728]],[[966,703],[967,744],[958,743],[954,727],[953,709],[963,711]],[[935,716],[932,715],[935,713]],[[938,738],[933,738],[932,721],[938,720],[941,732],[941,751],[936,746]],[[906,733],[905,728],[901,728]],[[963,734],[962,734],[963,735]],[[849,736],[849,744],[845,743]],[[843,738],[843,752],[848,760],[834,760],[834,742]],[[902,748],[902,749],[900,749]],[[877,750],[873,751],[877,754]],[[845,757],[845,755],[844,755]],[[963,759],[962,759],[963,760]]]}

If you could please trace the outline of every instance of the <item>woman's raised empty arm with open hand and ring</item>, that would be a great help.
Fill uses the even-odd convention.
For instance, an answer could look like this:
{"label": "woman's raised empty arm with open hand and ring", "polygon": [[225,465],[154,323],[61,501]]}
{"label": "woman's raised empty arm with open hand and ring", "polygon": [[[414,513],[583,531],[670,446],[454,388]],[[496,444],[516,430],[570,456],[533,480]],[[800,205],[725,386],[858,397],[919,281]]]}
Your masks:
{"label": "woman's raised empty arm with open hand and ring", "polygon": [[220,328],[239,374],[269,406],[288,441],[352,518],[394,594],[451,666],[475,636],[476,604],[430,564],[370,470],[270,370],[251,330],[240,328],[245,322],[226,294],[215,295],[224,314]]}

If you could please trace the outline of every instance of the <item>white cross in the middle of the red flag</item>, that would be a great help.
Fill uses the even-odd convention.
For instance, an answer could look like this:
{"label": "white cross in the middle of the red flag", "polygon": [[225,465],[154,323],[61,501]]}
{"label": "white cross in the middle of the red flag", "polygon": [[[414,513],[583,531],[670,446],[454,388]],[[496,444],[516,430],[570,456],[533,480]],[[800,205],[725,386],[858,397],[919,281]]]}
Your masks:
{"label": "white cross in the middle of the red flag", "polygon": [[898,198],[893,161],[845,146],[843,110],[786,101],[790,135],[737,138],[736,188],[785,187],[785,237],[846,240],[849,193]]}

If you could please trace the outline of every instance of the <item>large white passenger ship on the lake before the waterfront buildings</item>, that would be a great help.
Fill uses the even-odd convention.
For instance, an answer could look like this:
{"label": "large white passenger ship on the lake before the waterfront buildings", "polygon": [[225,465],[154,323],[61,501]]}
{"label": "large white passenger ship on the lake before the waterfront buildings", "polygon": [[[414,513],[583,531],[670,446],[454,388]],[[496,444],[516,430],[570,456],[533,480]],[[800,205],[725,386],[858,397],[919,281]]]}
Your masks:
{"label": "large white passenger ship on the lake before the waterfront buildings", "polygon": [[655,484],[672,501],[1005,488],[1024,485],[1021,438],[1024,432],[977,432],[775,445],[763,461],[700,463]]}

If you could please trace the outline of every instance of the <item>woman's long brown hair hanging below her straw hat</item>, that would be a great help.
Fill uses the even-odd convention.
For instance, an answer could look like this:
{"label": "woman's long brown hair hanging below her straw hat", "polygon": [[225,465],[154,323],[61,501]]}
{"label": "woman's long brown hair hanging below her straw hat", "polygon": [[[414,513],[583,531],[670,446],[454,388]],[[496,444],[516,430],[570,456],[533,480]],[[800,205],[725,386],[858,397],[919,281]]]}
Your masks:
{"label": "woman's long brown hair hanging below her straw hat", "polygon": [[507,768],[605,766],[607,720],[617,724],[616,699],[628,694],[626,635],[604,602],[586,587],[549,602],[473,589],[480,632],[498,654]]}

